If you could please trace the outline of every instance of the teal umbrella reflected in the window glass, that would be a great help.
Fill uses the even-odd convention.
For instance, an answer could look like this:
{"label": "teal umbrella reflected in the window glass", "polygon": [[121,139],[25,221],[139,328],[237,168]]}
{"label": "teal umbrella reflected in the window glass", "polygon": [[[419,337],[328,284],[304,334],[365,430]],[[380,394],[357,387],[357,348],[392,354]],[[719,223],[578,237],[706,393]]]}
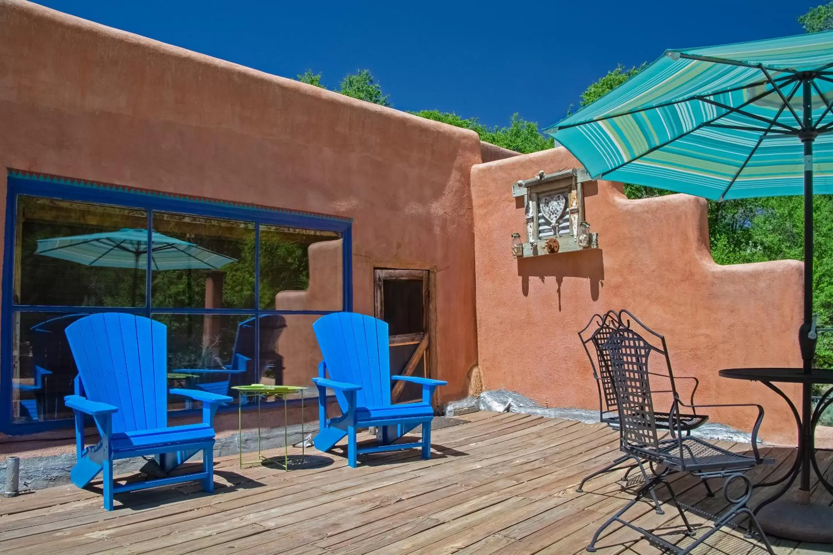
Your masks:
{"label": "teal umbrella reflected in the window glass", "polygon": [[[147,265],[147,230],[122,228],[105,233],[71,235],[37,241],[37,255],[70,260],[85,266],[132,268],[133,302],[137,272]],[[152,232],[152,270],[216,270],[237,259],[184,240]]]}

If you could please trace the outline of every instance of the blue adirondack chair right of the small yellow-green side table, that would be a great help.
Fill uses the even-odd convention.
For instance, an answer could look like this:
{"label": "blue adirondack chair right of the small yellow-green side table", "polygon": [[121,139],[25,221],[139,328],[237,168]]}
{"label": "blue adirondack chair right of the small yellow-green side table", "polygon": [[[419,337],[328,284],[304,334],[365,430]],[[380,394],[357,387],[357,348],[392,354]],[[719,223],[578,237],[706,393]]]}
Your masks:
{"label": "blue adirondack chair right of the small yellow-green side table", "polygon": [[[312,325],[324,360],[318,365],[319,432],[313,443],[329,451],[347,436],[347,463],[356,468],[362,453],[381,453],[419,447],[422,458],[431,458],[431,396],[447,382],[417,376],[391,375],[387,322],[371,316],[338,312],[323,316]],[[329,375],[329,379],[327,378]],[[402,380],[421,384],[421,403],[392,404],[391,382]],[[332,389],[342,415],[327,419],[327,388]],[[422,440],[394,444],[410,429],[422,425]],[[358,448],[356,429],[378,426],[378,444]]]}

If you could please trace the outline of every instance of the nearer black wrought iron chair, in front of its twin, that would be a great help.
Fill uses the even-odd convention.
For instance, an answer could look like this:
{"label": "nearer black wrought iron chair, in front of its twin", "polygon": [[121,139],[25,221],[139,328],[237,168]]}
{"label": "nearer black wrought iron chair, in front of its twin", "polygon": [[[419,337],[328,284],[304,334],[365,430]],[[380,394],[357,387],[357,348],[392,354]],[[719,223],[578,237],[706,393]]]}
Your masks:
{"label": "nearer black wrought iron chair, in front of its twin", "polygon": [[[725,526],[735,526],[733,523],[735,518],[745,516],[748,518],[751,526],[749,531],[754,531],[758,534],[761,541],[766,546],[766,549],[774,555],[769,540],[766,534],[761,530],[761,525],[758,523],[752,511],[746,507],[752,495],[752,483],[749,478],[744,475],[744,472],[755,468],[757,464],[772,463],[772,459],[761,458],[758,452],[757,435],[758,429],[761,427],[761,421],[764,418],[764,409],[759,404],[708,404],[697,405],[698,408],[714,408],[714,407],[755,407],[758,409],[758,418],[755,426],[752,429],[752,453],[753,456],[733,453],[732,451],[718,447],[707,442],[704,439],[699,439],[691,435],[685,435],[683,429],[683,420],[681,419],[681,407],[687,409],[695,409],[691,404],[685,404],[680,400],[678,394],[674,394],[674,404],[671,407],[671,430],[673,437],[671,439],[659,439],[656,433],[656,414],[654,413],[653,399],[651,398],[651,383],[648,374],[648,357],[651,352],[656,351],[656,347],[649,344],[645,339],[633,330],[619,329],[613,330],[608,337],[606,350],[610,354],[611,374],[614,386],[614,393],[616,394],[616,406],[619,413],[619,438],[620,450],[626,456],[636,461],[636,466],[640,469],[642,477],[645,478],[645,484],[636,493],[636,497],[621,508],[615,515],[601,525],[601,528],[596,530],[593,535],[590,545],[586,550],[589,552],[596,551],[596,541],[598,541],[601,532],[610,526],[612,523],[621,523],[623,526],[631,528],[646,538],[650,543],[656,547],[666,550],[678,555],[687,555],[695,548],[700,546],[710,538],[717,530]],[[648,461],[651,465],[651,475],[646,472],[646,465],[642,462]],[[662,468],[660,472],[656,472],[655,468]],[[702,511],[697,511],[694,508],[687,507],[679,503],[671,488],[671,484],[665,479],[670,473],[687,472],[704,480],[709,478],[724,478],[723,496],[729,503],[729,508],[721,515],[707,515],[714,519],[714,525],[709,528],[706,533],[703,533],[699,538],[695,536],[694,529],[686,518],[684,508],[691,512],[704,515]],[[731,483],[736,480],[742,480],[746,488],[740,497],[733,498],[729,493]],[[675,544],[662,538],[661,536],[652,533],[645,528],[636,526],[636,524],[628,522],[623,518],[624,514],[639,503],[646,495],[653,493],[656,488],[664,486],[671,501],[676,505],[677,511],[680,513],[683,523],[686,526],[686,535],[695,538],[695,541],[686,545],[685,548],[676,546]]]}

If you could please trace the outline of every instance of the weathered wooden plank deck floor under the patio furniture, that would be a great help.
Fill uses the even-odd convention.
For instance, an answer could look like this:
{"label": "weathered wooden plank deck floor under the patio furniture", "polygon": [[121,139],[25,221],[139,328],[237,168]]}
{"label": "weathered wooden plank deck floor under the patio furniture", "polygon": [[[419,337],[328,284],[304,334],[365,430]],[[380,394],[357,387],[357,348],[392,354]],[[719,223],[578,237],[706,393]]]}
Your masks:
{"label": "weathered wooden plank deck floor under the patio furniture", "polygon": [[[340,452],[326,453],[327,466],[287,473],[240,469],[237,457],[221,458],[214,494],[191,484],[126,493],[112,513],[102,510],[97,491],[72,486],[0,498],[0,552],[571,555],[585,553],[592,533],[628,498],[616,482],[622,473],[596,478],[587,493],[575,491],[581,477],[617,456],[617,435],[601,424],[523,414],[459,418],[467,423],[436,430],[430,461],[414,449],[364,457],[359,468],[348,468]],[[765,452],[778,463],[757,468],[756,479],[786,468],[788,450]],[[823,465],[831,461],[826,456]],[[685,503],[709,513],[723,507],[720,494],[706,498],[691,477],[677,477],[674,486]],[[833,503],[823,488],[813,496]],[[665,515],[646,503],[629,514],[681,538],[671,505]],[[598,553],[659,553],[630,530],[609,530]],[[740,533],[717,533],[710,543],[696,553],[764,553]],[[776,551],[809,555],[833,546],[776,541]]]}

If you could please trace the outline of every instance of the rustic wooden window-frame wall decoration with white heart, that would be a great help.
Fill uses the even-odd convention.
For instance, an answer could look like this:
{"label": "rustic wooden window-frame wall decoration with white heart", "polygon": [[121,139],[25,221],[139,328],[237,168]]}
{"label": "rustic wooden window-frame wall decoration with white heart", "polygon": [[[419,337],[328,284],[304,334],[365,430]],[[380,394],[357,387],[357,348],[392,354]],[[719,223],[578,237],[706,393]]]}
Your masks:
{"label": "rustic wooden window-frame wall decoration with white heart", "polygon": [[598,236],[585,221],[582,183],[590,181],[583,168],[546,174],[512,185],[512,196],[524,198],[526,242],[512,235],[512,256],[526,258],[598,247]]}

